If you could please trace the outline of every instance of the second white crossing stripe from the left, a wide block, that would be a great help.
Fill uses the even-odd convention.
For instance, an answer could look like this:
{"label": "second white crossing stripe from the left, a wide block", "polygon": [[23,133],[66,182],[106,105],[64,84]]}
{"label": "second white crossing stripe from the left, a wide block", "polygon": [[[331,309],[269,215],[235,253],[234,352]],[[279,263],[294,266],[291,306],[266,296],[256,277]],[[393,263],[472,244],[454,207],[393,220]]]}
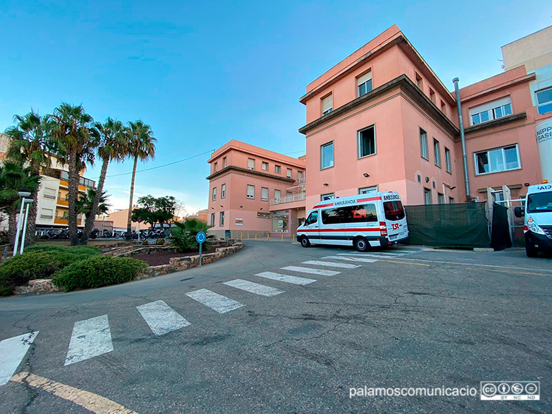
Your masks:
{"label": "second white crossing stripe from the left, a wide block", "polygon": [[75,322],[65,365],[113,351],[108,315]]}

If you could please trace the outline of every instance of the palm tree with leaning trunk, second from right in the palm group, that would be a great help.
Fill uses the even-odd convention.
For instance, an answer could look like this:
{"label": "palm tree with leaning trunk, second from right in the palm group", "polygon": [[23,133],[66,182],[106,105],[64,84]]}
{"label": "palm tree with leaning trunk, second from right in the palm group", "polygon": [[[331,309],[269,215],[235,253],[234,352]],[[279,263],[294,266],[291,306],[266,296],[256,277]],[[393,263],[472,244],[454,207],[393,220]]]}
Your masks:
{"label": "palm tree with leaning trunk, second from right in the palm group", "polygon": [[[106,175],[108,173],[108,166],[110,161],[122,161],[126,157],[126,151],[128,147],[129,131],[125,128],[121,121],[111,119],[108,117],[106,121],[95,122],[94,128],[97,130],[96,138],[98,157],[101,158],[101,172],[98,179],[97,190],[94,190],[95,198],[90,204],[90,219],[86,215],[86,224],[84,226],[83,235],[81,237],[81,244],[88,242],[88,235],[90,230],[94,228],[95,218],[99,211],[100,199],[105,192],[103,191],[103,184],[106,181]],[[88,190],[90,192],[90,190]],[[107,213],[107,211],[105,212]]]}

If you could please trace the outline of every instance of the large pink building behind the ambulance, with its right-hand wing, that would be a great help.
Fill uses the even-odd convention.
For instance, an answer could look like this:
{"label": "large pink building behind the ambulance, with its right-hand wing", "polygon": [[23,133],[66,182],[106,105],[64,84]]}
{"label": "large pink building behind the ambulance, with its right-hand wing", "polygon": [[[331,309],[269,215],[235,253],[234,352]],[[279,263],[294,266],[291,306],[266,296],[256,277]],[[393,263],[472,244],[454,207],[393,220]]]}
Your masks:
{"label": "large pink building behind the ambulance, with its right-hand wing", "polygon": [[[524,67],[460,90],[471,196],[540,182]],[[308,84],[306,207],[394,190],[405,204],[466,201],[454,94],[393,25]],[[497,197],[500,197],[497,195]]]}

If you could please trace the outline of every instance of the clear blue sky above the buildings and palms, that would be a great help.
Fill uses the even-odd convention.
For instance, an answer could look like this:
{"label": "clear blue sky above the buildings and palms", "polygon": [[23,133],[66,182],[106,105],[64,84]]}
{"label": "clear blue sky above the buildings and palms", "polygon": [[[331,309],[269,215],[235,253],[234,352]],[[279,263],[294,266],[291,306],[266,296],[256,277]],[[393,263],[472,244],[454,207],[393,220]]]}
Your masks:
{"label": "clear blue sky above the buildings and palms", "polygon": [[[159,166],[240,139],[298,157],[313,81],[393,23],[444,84],[501,72],[500,46],[550,26],[550,1],[3,1],[0,130],[14,114],[83,103],[95,120],[143,119]],[[139,172],[137,195],[206,208],[209,155]],[[132,163],[106,188],[128,206]],[[95,178],[99,166],[87,177]],[[119,175],[109,177],[110,175]]]}

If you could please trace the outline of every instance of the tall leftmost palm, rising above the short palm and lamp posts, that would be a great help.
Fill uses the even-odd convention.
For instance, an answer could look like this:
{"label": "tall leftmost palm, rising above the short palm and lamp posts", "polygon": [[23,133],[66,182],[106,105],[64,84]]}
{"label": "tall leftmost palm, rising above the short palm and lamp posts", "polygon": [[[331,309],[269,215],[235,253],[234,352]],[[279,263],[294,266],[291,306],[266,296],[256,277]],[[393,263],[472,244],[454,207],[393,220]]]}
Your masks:
{"label": "tall leftmost palm, rising above the short palm and lamp posts", "polygon": [[[8,159],[18,164],[28,163],[33,175],[40,175],[42,168],[50,166],[50,140],[46,133],[46,122],[32,109],[27,115],[15,115],[15,126],[6,130],[10,137]],[[30,206],[27,221],[26,244],[32,243],[37,222],[38,188],[32,191],[34,202]]]}

